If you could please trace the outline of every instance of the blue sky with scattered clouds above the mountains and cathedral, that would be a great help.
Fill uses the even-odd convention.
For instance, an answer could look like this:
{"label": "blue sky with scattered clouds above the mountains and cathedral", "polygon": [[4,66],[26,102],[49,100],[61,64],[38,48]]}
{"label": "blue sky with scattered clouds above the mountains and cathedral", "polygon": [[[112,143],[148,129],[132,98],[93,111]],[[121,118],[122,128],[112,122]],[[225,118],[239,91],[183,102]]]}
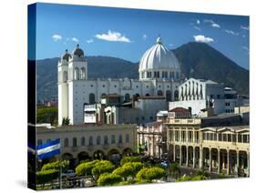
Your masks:
{"label": "blue sky with scattered clouds above the mountains and cathedral", "polygon": [[37,4],[36,59],[72,52],[78,43],[87,56],[138,62],[160,35],[169,49],[205,42],[249,69],[249,33],[248,16]]}

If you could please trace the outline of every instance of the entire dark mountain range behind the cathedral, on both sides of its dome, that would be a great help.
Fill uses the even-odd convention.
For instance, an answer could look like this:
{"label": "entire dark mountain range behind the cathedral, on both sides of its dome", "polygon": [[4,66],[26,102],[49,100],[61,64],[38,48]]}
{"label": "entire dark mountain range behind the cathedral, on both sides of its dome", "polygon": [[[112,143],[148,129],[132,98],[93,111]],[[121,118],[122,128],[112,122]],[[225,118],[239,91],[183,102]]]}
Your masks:
{"label": "entire dark mountain range behind the cathedral, on both sides of its dome", "polygon": [[[172,51],[179,59],[183,77],[210,79],[249,94],[249,71],[213,47],[190,42]],[[57,60],[36,61],[37,100],[57,100]],[[110,56],[87,56],[87,62],[88,78],[138,78],[138,63]]]}

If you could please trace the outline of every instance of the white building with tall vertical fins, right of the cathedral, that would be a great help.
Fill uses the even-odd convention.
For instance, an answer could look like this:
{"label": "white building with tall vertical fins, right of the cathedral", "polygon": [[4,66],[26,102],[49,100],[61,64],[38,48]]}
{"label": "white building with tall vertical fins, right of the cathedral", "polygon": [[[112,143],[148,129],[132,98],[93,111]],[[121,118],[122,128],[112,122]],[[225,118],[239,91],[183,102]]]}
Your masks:
{"label": "white building with tall vertical fins, right of the cathedral", "polygon": [[211,80],[189,78],[179,86],[179,101],[169,102],[169,109],[188,108],[194,116],[201,116],[202,110],[212,110],[213,115],[234,113],[234,107],[249,104],[248,98],[240,97],[230,87]]}

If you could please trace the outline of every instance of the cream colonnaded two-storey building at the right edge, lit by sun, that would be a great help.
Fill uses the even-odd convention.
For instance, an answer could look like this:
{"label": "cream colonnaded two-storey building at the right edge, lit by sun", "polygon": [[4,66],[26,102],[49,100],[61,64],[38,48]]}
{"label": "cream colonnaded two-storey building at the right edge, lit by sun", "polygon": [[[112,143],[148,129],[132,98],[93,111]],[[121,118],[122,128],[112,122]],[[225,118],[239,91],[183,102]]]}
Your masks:
{"label": "cream colonnaded two-storey building at the right edge, lit by sun", "polygon": [[169,159],[189,168],[249,176],[250,129],[241,117],[169,118]]}

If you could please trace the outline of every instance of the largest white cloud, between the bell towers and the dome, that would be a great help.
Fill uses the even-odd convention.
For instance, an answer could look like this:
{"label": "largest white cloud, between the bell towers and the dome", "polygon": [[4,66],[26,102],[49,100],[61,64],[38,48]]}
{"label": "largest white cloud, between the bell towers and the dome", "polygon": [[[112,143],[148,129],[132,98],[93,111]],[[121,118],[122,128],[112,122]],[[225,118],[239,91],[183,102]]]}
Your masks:
{"label": "largest white cloud, between the bell towers and the dome", "polygon": [[114,32],[111,30],[108,30],[108,34],[97,34],[96,37],[97,39],[102,39],[111,42],[131,42],[128,37],[122,35],[119,32]]}

